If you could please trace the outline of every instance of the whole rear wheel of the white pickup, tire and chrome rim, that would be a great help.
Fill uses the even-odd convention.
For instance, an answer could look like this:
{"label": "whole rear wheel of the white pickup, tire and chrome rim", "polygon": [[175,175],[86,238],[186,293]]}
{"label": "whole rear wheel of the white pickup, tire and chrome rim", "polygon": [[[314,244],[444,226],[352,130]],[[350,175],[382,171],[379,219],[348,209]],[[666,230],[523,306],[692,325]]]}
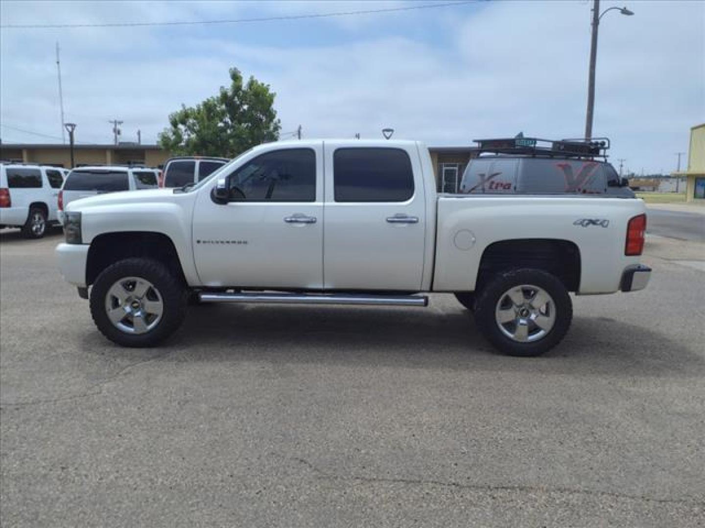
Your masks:
{"label": "whole rear wheel of the white pickup, tire and chrome rim", "polygon": [[572,302],[563,282],[541,270],[496,275],[475,303],[475,321],[484,337],[510,356],[540,356],[565,337]]}

